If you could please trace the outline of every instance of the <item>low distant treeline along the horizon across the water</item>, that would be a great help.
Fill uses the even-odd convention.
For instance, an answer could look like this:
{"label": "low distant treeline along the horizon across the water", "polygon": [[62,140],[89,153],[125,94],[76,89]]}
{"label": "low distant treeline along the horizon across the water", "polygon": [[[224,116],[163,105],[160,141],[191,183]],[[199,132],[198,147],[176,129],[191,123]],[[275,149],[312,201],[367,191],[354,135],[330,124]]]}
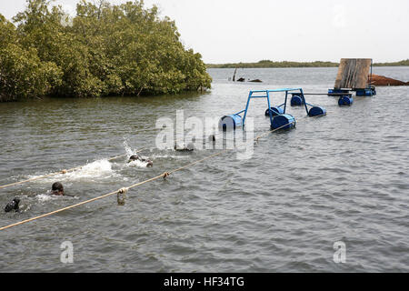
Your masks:
{"label": "low distant treeline along the horizon across the water", "polygon": [[[270,60],[262,60],[258,63],[234,63],[234,64],[207,64],[209,68],[264,68],[264,67],[331,67],[338,66],[339,63],[333,62],[273,62]],[[387,65],[409,65],[409,59],[405,61],[395,63],[378,63],[374,66],[387,66]]]}

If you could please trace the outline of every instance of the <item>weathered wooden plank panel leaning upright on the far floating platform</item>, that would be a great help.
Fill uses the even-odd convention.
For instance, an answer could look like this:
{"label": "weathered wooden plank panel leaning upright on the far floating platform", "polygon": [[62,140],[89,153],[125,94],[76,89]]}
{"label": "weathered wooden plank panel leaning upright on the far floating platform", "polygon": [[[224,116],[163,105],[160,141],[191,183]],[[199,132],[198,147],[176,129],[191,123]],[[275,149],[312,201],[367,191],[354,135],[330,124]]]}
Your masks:
{"label": "weathered wooden plank panel leaning upright on the far floating platform", "polygon": [[368,85],[370,58],[342,58],[334,88],[364,89]]}

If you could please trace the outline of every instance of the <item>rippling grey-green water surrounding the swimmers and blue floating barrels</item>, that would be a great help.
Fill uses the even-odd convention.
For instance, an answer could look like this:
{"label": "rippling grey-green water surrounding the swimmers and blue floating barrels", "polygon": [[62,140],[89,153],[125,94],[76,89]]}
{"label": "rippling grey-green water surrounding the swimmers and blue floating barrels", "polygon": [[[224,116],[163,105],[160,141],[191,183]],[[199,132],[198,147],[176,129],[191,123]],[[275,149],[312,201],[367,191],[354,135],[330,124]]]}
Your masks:
{"label": "rippling grey-green water surrounding the swimmers and blue floating barrels", "polygon": [[[250,89],[302,86],[326,92],[336,68],[240,69],[262,84],[231,83],[233,69],[211,69],[206,94],[52,99],[0,104],[0,185],[86,165],[0,189],[21,213],[0,211],[1,226],[70,206],[184,166],[216,151],[155,149],[155,121],[221,116],[244,108]],[[374,74],[409,80],[408,67]],[[289,108],[294,130],[267,135],[242,161],[234,152],[116,196],[0,232],[1,272],[408,272],[409,87],[377,87],[351,107],[307,96],[327,116]],[[274,95],[274,104],[282,95]],[[276,103],[275,103],[276,102]],[[252,101],[255,134],[268,129],[266,105]],[[139,148],[153,168],[127,164]],[[50,196],[61,181],[70,196]],[[74,264],[60,262],[64,241]],[[346,246],[335,264],[334,242]]]}

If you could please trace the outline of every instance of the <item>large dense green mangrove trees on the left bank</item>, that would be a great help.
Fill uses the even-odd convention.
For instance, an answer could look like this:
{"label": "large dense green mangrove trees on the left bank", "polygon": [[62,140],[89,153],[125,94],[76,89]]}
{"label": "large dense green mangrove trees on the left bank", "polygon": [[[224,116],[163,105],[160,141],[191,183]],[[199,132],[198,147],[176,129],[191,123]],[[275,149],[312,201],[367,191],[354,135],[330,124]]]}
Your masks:
{"label": "large dense green mangrove trees on the left bank", "polygon": [[210,88],[202,55],[185,49],[155,5],[81,0],[72,18],[50,2],[27,0],[13,22],[0,15],[0,101]]}

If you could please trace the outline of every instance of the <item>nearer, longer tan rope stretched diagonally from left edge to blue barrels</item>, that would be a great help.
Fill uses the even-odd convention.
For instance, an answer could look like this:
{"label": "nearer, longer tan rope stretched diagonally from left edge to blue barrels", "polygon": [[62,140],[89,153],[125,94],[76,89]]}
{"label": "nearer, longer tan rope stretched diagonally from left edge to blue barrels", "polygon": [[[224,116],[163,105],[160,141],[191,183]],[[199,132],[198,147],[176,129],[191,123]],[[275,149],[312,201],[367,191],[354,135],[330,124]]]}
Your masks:
{"label": "nearer, longer tan rope stretched diagonally from left edge to blue barrels", "polygon": [[[265,133],[264,135],[270,134],[270,133],[274,133],[275,131],[277,131],[277,130],[279,130],[279,129],[282,129],[282,128],[284,128],[285,126],[291,125],[291,124],[293,124],[293,123],[294,123],[294,121],[291,122],[291,123],[288,123],[288,124],[286,124],[286,125],[280,126],[280,127],[278,127],[278,128],[275,128],[275,129],[273,129],[273,130],[271,129],[271,130],[269,130],[267,133]],[[262,136],[262,135],[257,136],[257,137],[254,139],[254,141],[258,140],[261,136]],[[189,163],[189,164],[187,164],[187,165],[185,165],[185,166],[178,167],[178,168],[176,168],[176,169],[174,169],[174,170],[172,170],[172,171],[165,172],[165,173],[162,174],[162,175],[152,177],[152,178],[147,179],[147,180],[145,180],[145,181],[135,183],[134,185],[127,186],[127,187],[125,187],[125,188],[123,187],[123,188],[121,188],[121,189],[119,189],[119,190],[116,190],[116,191],[114,191],[114,192],[110,192],[110,193],[105,194],[105,195],[103,195],[103,196],[97,196],[97,197],[95,197],[95,198],[92,198],[92,199],[89,199],[89,200],[85,200],[85,201],[83,201],[83,202],[77,203],[77,204],[72,205],[72,206],[67,206],[67,207],[64,207],[64,208],[60,208],[60,209],[57,209],[57,210],[55,210],[55,211],[46,213],[46,214],[41,215],[41,216],[35,216],[35,217],[22,220],[22,221],[20,221],[20,222],[17,222],[17,223],[15,223],[15,224],[12,224],[12,225],[9,225],[9,226],[0,227],[0,231],[5,230],[5,229],[8,229],[8,228],[11,228],[11,227],[14,227],[14,226],[24,225],[24,224],[26,224],[26,223],[32,222],[32,221],[37,220],[37,219],[40,219],[40,218],[44,218],[44,217],[46,217],[46,216],[52,216],[52,215],[55,215],[55,214],[57,214],[57,213],[63,212],[63,211],[68,210],[68,209],[72,209],[72,208],[75,208],[75,207],[78,207],[78,206],[83,206],[83,205],[85,205],[85,204],[94,202],[94,201],[96,201],[96,200],[103,199],[103,198],[108,197],[108,196],[113,196],[113,195],[115,195],[115,194],[120,193],[121,191],[124,191],[124,190],[127,191],[127,190],[129,190],[129,189],[135,188],[136,186],[141,186],[141,185],[144,185],[145,183],[149,183],[149,182],[155,181],[155,180],[157,180],[157,179],[159,179],[159,178],[161,178],[161,177],[166,178],[167,176],[170,176],[171,174],[173,174],[173,173],[175,173],[175,172],[182,171],[182,170],[185,169],[186,167],[195,166],[195,165],[198,164],[198,163],[204,162],[205,160],[207,160],[207,159],[209,159],[209,158],[212,158],[212,157],[214,157],[214,156],[220,156],[220,155],[222,155],[222,154],[224,154],[225,152],[230,151],[230,150],[231,150],[231,149],[224,149],[224,150],[222,150],[222,151],[220,151],[220,152],[218,152],[218,153],[215,153],[214,155],[205,156],[204,158],[202,158],[202,159],[200,159],[200,160],[197,160],[197,161],[195,161],[195,162]],[[115,157],[115,158],[118,158],[118,157],[120,157],[120,156],[117,156],[117,157]],[[112,159],[114,159],[114,158],[112,158]]]}

